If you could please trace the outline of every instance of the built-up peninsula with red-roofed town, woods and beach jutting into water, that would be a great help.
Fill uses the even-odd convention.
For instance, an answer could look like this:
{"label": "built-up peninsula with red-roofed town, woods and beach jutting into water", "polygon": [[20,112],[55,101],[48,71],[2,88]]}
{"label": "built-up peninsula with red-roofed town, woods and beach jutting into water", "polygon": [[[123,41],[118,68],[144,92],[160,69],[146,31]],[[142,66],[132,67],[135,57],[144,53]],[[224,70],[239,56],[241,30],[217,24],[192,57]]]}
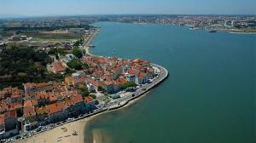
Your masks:
{"label": "built-up peninsula with red-roofed town, woods and beach jutting into water", "polygon": [[[42,26],[42,35],[32,34],[38,28],[20,28],[20,33],[34,37],[15,35],[2,45],[0,64],[4,69],[12,66],[6,65],[5,60],[15,58],[17,53],[36,55],[31,58],[31,65],[24,66],[25,71],[17,69],[17,77],[0,70],[2,141],[83,142],[84,127],[90,118],[131,103],[168,77],[164,67],[148,60],[91,54],[91,41],[100,29],[85,24],[79,28],[63,25],[46,29]],[[66,42],[73,37],[79,38]],[[26,48],[28,43],[35,42],[36,48]],[[42,46],[45,43],[48,46]],[[39,55],[44,57],[37,58]],[[16,57],[15,63],[20,58]]]}

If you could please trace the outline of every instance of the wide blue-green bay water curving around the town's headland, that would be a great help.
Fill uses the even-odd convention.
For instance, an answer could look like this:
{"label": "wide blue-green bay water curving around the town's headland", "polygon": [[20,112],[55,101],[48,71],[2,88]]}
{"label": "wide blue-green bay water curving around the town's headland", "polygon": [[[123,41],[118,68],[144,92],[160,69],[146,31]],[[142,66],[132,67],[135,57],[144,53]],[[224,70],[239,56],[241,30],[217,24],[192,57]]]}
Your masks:
{"label": "wide blue-green bay water curving around the town's headland", "polygon": [[[102,22],[92,53],[165,66],[166,82],[125,109],[96,117],[102,142],[255,143],[256,35]],[[90,139],[90,137],[88,137]]]}

